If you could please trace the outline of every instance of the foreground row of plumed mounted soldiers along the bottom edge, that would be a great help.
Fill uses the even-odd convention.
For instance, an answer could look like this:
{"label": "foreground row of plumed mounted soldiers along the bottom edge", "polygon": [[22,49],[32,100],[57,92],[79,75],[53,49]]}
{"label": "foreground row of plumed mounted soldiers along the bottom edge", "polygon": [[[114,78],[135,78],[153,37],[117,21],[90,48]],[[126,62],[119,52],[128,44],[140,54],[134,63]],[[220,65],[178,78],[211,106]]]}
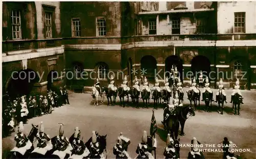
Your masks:
{"label": "foreground row of plumed mounted soldiers along the bottom edge", "polygon": [[[32,125],[32,129],[28,137],[23,133],[23,122],[19,123],[18,133],[15,134],[16,146],[7,155],[7,158],[106,158],[106,135],[99,135],[95,131],[92,132],[92,137],[84,143],[81,137],[81,132],[78,127],[75,127],[75,132],[68,139],[64,135],[64,125],[60,124],[59,134],[50,138],[45,133],[45,128],[42,122],[39,126]],[[39,131],[39,132],[38,132]],[[37,146],[34,148],[33,141],[37,139]],[[122,132],[117,137],[117,142],[113,147],[113,154],[116,158],[132,158],[127,153],[128,146],[131,140],[124,137]],[[163,151],[165,158],[180,158],[180,142],[173,140],[170,134],[167,134],[166,147]],[[187,158],[205,158],[202,151],[200,151],[201,143],[196,138],[191,140],[191,151],[188,153]],[[227,138],[221,142],[223,148],[223,158],[237,159],[233,154],[233,143],[228,141]],[[148,136],[144,131],[142,141],[138,144],[136,158],[156,158],[152,155],[152,151],[156,151],[157,140],[155,136]]]}

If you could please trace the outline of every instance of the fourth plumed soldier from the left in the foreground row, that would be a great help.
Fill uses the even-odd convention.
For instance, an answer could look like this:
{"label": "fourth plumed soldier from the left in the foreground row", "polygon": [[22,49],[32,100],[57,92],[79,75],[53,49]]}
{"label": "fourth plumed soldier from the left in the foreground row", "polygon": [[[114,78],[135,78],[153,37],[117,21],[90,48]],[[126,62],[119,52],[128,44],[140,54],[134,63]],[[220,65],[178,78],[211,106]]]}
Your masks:
{"label": "fourth plumed soldier from the left in the foreground row", "polygon": [[80,140],[81,132],[78,127],[75,128],[74,133],[74,140],[72,141],[71,145],[73,147],[73,155],[70,158],[83,158],[88,157],[90,151],[87,147],[83,144],[83,141]]}

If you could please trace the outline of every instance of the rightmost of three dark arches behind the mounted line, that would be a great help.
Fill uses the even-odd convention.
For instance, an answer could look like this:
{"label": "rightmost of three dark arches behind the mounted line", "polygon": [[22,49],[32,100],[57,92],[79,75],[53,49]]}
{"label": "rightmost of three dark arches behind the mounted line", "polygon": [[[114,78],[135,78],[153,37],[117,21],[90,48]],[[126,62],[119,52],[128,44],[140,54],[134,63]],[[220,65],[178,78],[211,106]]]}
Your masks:
{"label": "rightmost of three dark arches behind the mounted line", "polygon": [[[210,61],[207,57],[198,55],[191,60],[191,72],[193,72],[196,79],[199,78],[200,71],[203,72],[203,76],[209,77],[210,73]],[[210,79],[209,79],[210,80]]]}

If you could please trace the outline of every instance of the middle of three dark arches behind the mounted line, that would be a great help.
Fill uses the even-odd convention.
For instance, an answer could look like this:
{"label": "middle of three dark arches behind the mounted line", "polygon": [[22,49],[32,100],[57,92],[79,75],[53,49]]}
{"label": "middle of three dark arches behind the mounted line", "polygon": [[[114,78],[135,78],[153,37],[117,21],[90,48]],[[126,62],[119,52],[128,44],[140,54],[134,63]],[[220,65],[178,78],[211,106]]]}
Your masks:
{"label": "middle of three dark arches behind the mounted line", "polygon": [[180,79],[183,79],[182,72],[183,72],[183,61],[179,58],[179,56],[172,55],[168,56],[165,59],[165,77],[169,77],[169,72],[171,69],[174,69],[174,66],[177,67],[177,71],[179,72]]}

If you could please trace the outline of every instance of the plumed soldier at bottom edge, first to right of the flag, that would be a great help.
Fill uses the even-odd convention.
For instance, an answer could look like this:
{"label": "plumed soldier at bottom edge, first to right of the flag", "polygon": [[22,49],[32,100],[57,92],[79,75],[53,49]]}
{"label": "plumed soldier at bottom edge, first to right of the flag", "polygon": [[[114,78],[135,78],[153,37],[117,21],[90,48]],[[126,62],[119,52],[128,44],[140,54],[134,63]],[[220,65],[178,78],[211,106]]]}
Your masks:
{"label": "plumed soldier at bottom edge, first to right of the flag", "polygon": [[165,158],[179,158],[179,156],[177,155],[177,151],[174,148],[174,140],[170,137],[169,133],[167,134],[166,145],[167,147],[165,147],[163,152]]}

